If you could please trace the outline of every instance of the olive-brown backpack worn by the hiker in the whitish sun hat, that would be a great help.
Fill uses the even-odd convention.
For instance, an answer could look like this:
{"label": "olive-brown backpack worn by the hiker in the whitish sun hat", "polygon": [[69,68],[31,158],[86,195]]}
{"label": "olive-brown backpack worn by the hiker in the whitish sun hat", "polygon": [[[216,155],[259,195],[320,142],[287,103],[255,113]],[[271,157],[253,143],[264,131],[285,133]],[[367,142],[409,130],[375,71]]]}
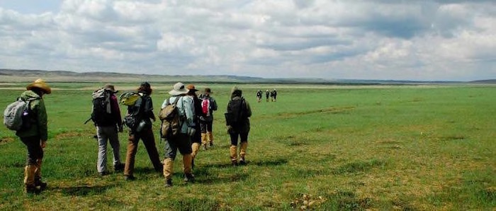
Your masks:
{"label": "olive-brown backpack worn by the hiker in the whitish sun hat", "polygon": [[177,96],[174,103],[170,103],[167,99],[167,105],[162,108],[159,112],[159,119],[162,120],[162,126],[160,127],[160,136],[164,139],[171,139],[181,133],[181,118],[179,115],[179,108],[176,104],[182,96]]}

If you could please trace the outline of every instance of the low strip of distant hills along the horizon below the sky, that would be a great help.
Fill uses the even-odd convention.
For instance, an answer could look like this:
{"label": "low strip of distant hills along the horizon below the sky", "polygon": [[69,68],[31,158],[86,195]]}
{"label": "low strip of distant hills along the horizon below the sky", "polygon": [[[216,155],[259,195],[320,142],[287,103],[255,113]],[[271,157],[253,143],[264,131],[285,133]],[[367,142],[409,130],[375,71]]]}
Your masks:
{"label": "low strip of distant hills along the horizon below the sky", "polygon": [[0,83],[9,82],[30,82],[43,78],[52,82],[164,82],[175,81],[201,82],[201,83],[240,83],[240,84],[338,84],[338,85],[402,85],[402,84],[496,84],[496,79],[481,81],[395,81],[395,80],[359,80],[359,79],[265,79],[252,76],[232,76],[232,75],[158,75],[158,74],[125,74],[116,72],[70,72],[70,71],[46,71],[36,69],[0,69]]}

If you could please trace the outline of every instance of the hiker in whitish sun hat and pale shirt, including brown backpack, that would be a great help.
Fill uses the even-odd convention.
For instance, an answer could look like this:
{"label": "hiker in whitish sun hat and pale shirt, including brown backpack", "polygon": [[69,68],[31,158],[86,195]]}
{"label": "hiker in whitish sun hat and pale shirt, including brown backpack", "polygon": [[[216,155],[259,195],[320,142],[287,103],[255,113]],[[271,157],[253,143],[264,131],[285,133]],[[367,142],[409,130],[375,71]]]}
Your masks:
{"label": "hiker in whitish sun hat and pale shirt, including brown backpack", "polygon": [[[192,96],[186,96],[188,89],[178,82],[174,84],[173,89],[169,91],[171,95],[162,103],[162,110],[159,118],[162,119],[162,137],[165,142],[165,159],[164,159],[164,178],[165,187],[172,186],[172,173],[174,172],[174,160],[179,149],[183,156],[184,181],[193,183],[194,176],[192,173],[192,156],[191,156],[191,137],[196,133],[195,130],[195,107]],[[170,113],[168,111],[171,111]],[[172,115],[172,120],[169,120]]]}

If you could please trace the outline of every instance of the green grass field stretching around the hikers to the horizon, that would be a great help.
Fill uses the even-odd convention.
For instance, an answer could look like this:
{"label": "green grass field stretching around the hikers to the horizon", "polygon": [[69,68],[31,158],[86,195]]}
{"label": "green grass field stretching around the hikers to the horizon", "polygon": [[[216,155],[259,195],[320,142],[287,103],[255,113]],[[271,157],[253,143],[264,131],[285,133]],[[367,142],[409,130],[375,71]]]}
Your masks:
{"label": "green grass field stretching around the hikers to the horizon", "polygon": [[[22,92],[8,86],[0,89],[1,108]],[[178,156],[167,189],[142,143],[136,181],[122,173],[99,177],[95,130],[83,125],[98,84],[52,86],[45,97],[49,187],[23,193],[26,149],[0,127],[0,210],[496,209],[495,86],[238,85],[252,106],[252,130],[249,164],[232,167],[222,118],[230,86],[210,84],[220,107],[215,147],[195,160],[194,184],[182,181]],[[170,87],[152,84],[156,112]],[[274,87],[277,102],[257,103],[257,89]],[[157,145],[163,156],[164,142]]]}

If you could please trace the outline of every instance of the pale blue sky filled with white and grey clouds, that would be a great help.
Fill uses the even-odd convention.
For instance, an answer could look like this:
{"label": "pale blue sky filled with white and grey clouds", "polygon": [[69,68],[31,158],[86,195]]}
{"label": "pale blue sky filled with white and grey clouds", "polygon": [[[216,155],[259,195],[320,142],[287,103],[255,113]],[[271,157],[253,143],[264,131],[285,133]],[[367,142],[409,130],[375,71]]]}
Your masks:
{"label": "pale blue sky filled with white and grey clouds", "polygon": [[0,68],[496,79],[495,0],[0,0]]}

